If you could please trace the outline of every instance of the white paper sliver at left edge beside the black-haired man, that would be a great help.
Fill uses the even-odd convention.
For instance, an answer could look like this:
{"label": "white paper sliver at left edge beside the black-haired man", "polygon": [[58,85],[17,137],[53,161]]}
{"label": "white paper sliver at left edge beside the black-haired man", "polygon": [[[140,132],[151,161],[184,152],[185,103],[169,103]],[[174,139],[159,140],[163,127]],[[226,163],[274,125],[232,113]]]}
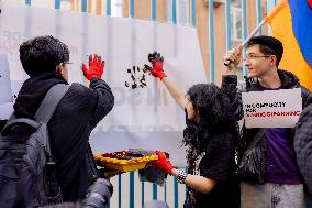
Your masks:
{"label": "white paper sliver at left edge beside the black-haired man", "polygon": [[0,105],[12,99],[11,79],[7,54],[0,54]]}

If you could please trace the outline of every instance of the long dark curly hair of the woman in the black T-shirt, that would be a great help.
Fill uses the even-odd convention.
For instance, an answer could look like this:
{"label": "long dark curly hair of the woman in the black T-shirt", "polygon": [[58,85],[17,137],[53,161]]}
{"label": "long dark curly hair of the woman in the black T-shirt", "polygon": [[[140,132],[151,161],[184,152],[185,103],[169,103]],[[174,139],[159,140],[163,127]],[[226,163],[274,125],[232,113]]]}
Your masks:
{"label": "long dark curly hair of the woman in the black T-shirt", "polygon": [[214,84],[198,84],[188,90],[187,97],[200,119],[198,122],[187,119],[185,145],[191,145],[197,153],[202,153],[216,133],[230,132],[236,139],[238,133],[234,113],[226,94],[221,88]]}

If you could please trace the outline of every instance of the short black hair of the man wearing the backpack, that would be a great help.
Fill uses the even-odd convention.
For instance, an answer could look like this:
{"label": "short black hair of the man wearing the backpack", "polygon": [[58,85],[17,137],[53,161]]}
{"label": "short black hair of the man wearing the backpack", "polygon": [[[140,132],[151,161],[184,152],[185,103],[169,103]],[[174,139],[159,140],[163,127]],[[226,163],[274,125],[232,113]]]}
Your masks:
{"label": "short black hair of the man wearing the backpack", "polygon": [[55,72],[58,64],[69,61],[69,50],[51,35],[36,36],[21,44],[20,59],[26,74],[32,77]]}

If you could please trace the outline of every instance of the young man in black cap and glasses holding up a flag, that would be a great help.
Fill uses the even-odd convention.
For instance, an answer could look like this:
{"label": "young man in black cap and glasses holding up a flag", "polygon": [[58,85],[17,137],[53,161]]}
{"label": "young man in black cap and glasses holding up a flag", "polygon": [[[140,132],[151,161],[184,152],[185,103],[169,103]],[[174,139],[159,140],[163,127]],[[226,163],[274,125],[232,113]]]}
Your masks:
{"label": "young man in black cap and glasses holding up a flag", "polygon": [[[243,118],[242,90],[236,88],[235,69],[241,59],[248,70],[243,91],[266,91],[300,88],[302,108],[309,90],[290,72],[278,69],[282,57],[282,43],[272,36],[254,36],[246,44],[223,55],[226,63],[222,88],[231,99],[237,120]],[[230,64],[227,64],[230,63]],[[250,128],[243,124],[238,175],[242,208],[249,207],[304,207],[303,179],[293,151],[293,128]],[[256,158],[256,160],[252,160]],[[250,163],[253,161],[253,163]],[[248,163],[249,162],[249,163]]]}

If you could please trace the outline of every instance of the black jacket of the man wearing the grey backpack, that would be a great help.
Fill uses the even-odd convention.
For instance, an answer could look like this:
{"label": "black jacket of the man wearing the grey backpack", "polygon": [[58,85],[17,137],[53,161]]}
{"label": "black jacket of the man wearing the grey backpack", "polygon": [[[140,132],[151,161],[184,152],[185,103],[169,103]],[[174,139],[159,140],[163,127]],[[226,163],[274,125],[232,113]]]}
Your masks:
{"label": "black jacket of the man wearing the grey backpack", "polygon": [[[47,90],[67,81],[56,73],[45,73],[24,81],[14,105],[15,117],[32,118]],[[112,109],[114,97],[104,80],[93,78],[89,88],[73,84],[48,122],[52,153],[65,201],[85,198],[96,173],[88,154],[93,128]]]}

